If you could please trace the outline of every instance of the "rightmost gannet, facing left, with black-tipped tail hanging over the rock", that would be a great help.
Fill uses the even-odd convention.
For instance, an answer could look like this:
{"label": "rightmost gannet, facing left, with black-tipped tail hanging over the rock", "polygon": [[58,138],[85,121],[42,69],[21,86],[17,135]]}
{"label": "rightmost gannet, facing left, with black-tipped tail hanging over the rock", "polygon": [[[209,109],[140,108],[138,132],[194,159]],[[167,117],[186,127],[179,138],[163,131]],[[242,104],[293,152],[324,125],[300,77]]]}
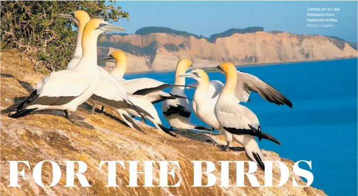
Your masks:
{"label": "rightmost gannet, facing left, with black-tipped tail hanging over the rock", "polygon": [[[214,109],[216,119],[220,124],[220,128],[224,130],[224,134],[228,142],[226,150],[229,149],[230,142],[232,142],[233,140],[239,142],[245,147],[247,155],[254,162],[256,162],[256,164],[262,170],[265,170],[265,165],[262,162],[265,160],[265,157],[263,156],[260,148],[258,147],[258,144],[255,140],[255,136],[259,138],[259,141],[261,141],[261,138],[264,138],[278,144],[281,143],[271,135],[261,132],[261,127],[256,115],[248,108],[238,104],[237,96],[243,97],[249,92],[244,90],[236,92],[239,85],[243,86],[244,88],[249,88],[251,90],[258,89],[257,86],[252,86],[257,85],[257,82],[251,81],[251,83],[247,84],[247,82],[245,83],[245,80],[239,80],[239,73],[237,72],[235,65],[233,65],[232,63],[223,63],[217,67],[209,68],[206,71],[225,72],[226,75],[226,82],[224,88],[219,95],[219,99]],[[237,81],[241,81],[241,83],[237,84]],[[271,86],[269,87],[272,88]],[[263,93],[264,97],[268,97],[270,95],[270,100],[272,100],[274,96],[272,96],[271,94],[266,94],[266,92],[271,91],[272,90],[268,90],[266,88],[265,91],[261,90],[259,92]],[[275,90],[275,92],[278,91]],[[281,93],[279,94],[282,95]],[[245,97],[246,101],[247,98],[248,95],[246,95]]]}

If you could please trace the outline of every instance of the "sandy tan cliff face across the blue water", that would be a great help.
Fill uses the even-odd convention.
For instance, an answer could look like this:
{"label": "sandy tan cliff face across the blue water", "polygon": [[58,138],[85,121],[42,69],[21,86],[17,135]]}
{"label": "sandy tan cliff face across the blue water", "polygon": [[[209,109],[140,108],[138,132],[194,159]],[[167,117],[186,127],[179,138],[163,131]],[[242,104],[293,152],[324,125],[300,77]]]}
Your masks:
{"label": "sandy tan cliff face across the blue water", "polygon": [[209,67],[225,61],[247,65],[357,57],[357,50],[343,41],[287,32],[236,33],[214,43],[166,33],[111,35],[101,42],[111,43],[99,47],[101,57],[117,49],[127,52],[128,67],[135,67],[128,72],[173,70],[181,58],[192,59],[197,67]]}

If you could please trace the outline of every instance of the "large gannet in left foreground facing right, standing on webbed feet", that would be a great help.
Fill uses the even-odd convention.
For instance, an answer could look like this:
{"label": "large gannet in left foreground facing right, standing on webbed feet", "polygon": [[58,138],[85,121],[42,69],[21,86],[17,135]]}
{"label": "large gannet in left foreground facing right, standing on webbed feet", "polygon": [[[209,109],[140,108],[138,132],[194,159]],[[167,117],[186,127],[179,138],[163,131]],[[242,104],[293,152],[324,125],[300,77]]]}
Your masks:
{"label": "large gannet in left foreground facing right, standing on webbed feet", "polygon": [[52,72],[42,87],[20,103],[20,110],[10,115],[19,118],[34,111],[45,109],[67,110],[72,113],[73,123],[93,128],[76,118],[77,107],[96,91],[101,81],[97,66],[97,38],[105,31],[123,30],[101,19],[90,20],[82,36],[83,54],[78,65],[73,69]]}

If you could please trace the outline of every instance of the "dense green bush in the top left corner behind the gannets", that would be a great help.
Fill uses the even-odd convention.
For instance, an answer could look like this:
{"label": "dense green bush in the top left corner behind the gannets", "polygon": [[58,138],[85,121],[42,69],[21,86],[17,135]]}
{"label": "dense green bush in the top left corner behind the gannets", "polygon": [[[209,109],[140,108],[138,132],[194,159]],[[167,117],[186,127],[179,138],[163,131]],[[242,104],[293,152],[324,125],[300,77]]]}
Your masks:
{"label": "dense green bush in the top left corner behind the gannets", "polygon": [[[112,2],[112,1],[110,1]],[[105,1],[1,1],[1,49],[18,48],[44,73],[66,67],[72,58],[77,31],[74,23],[55,17],[85,10],[91,18],[108,22],[128,13]]]}

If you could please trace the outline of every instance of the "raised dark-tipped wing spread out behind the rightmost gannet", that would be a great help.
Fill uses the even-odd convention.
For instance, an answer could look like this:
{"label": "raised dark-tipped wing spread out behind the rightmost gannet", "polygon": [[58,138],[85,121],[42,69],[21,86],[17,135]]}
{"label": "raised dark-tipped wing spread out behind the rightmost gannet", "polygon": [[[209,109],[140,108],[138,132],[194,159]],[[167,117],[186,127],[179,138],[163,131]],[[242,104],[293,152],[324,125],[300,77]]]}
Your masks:
{"label": "raised dark-tipped wing spread out behind the rightmost gannet", "polygon": [[286,104],[292,108],[293,104],[291,101],[268,83],[254,75],[242,71],[238,71],[237,73],[238,80],[235,88],[235,97],[239,100],[239,102],[246,103],[248,97],[250,96],[250,92],[253,91],[271,103],[275,103],[277,105]]}

